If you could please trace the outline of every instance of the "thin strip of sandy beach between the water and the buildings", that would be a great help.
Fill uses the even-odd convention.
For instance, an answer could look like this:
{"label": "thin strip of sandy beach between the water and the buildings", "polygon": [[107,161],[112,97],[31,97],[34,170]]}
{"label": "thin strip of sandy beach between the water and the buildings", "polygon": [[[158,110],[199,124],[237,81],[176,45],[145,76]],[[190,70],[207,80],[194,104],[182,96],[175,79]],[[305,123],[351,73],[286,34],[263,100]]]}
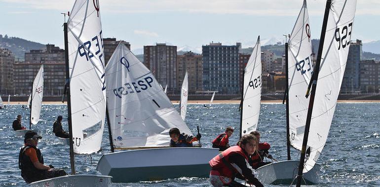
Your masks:
{"label": "thin strip of sandy beach between the water and the buildings", "polygon": [[[338,100],[340,103],[376,103],[380,102],[380,100]],[[18,102],[18,101],[11,101],[10,104],[22,104],[26,105],[27,102]],[[179,104],[180,101],[172,101],[173,104]],[[209,104],[209,100],[189,100],[189,104]],[[214,100],[213,104],[239,104],[240,100]],[[262,100],[261,103],[282,103],[282,100]],[[4,105],[7,104],[7,102],[3,103]],[[62,103],[61,101],[44,101],[42,104],[66,104]]]}

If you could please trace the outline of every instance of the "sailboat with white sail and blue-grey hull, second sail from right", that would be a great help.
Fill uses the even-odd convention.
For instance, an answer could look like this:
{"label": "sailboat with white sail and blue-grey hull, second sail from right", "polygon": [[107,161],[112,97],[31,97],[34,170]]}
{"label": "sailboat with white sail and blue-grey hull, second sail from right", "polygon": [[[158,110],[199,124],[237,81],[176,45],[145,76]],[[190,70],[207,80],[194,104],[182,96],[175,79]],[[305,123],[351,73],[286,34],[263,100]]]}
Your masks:
{"label": "sailboat with white sail and blue-grey hull, second sail from right", "polygon": [[[295,23],[288,42],[285,44],[286,60],[286,121],[287,121],[287,155],[288,160],[277,161],[262,166],[256,171],[260,181],[264,184],[292,183],[295,178],[294,171],[299,161],[291,160],[290,145],[295,149],[302,149],[304,123],[306,121],[308,99],[304,97],[313,71],[312,46],[310,38],[310,25],[306,0]],[[305,174],[306,184],[318,183],[320,165]]]}

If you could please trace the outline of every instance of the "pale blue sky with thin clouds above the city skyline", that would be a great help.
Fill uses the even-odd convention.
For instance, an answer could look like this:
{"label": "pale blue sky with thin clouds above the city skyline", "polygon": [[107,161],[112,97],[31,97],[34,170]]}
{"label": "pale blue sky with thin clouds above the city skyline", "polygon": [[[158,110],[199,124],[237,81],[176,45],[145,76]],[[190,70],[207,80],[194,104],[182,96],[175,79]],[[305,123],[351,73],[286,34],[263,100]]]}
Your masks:
{"label": "pale blue sky with thin clouds above the city skyline", "polygon": [[[91,1],[91,0],[90,0]],[[61,48],[63,12],[75,0],[0,0],[0,34]],[[303,0],[99,0],[103,37],[131,44],[201,49],[210,42],[252,47],[292,31]],[[326,0],[307,0],[311,38],[319,38]],[[67,18],[66,18],[67,19]],[[357,0],[351,39],[380,40],[380,0]]]}

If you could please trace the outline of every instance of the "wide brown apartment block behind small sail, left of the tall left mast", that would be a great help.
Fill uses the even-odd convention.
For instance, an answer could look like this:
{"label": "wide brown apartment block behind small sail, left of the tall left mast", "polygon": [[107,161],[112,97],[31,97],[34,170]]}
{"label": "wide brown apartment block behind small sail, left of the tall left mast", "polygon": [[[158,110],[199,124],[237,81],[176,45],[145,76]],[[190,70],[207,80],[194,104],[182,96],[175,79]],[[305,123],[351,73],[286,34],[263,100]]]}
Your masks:
{"label": "wide brown apartment block behind small sail, left of the tall left mast", "polygon": [[14,63],[15,94],[30,94],[40,65],[44,65],[43,94],[62,95],[65,86],[65,50],[47,44],[44,50],[25,53],[25,62]]}

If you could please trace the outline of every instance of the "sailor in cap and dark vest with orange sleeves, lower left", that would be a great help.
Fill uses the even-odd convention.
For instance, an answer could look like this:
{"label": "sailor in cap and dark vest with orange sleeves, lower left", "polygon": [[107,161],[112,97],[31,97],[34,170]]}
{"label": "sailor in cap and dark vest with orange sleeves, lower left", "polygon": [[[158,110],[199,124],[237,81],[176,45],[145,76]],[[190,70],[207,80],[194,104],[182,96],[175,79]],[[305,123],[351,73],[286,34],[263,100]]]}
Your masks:
{"label": "sailor in cap and dark vest with orange sleeves, lower left", "polygon": [[18,167],[21,169],[21,177],[28,184],[67,175],[63,169],[54,169],[52,165],[43,165],[43,156],[37,148],[38,139],[41,138],[36,132],[27,131],[24,136],[25,145],[21,148],[18,156]]}

